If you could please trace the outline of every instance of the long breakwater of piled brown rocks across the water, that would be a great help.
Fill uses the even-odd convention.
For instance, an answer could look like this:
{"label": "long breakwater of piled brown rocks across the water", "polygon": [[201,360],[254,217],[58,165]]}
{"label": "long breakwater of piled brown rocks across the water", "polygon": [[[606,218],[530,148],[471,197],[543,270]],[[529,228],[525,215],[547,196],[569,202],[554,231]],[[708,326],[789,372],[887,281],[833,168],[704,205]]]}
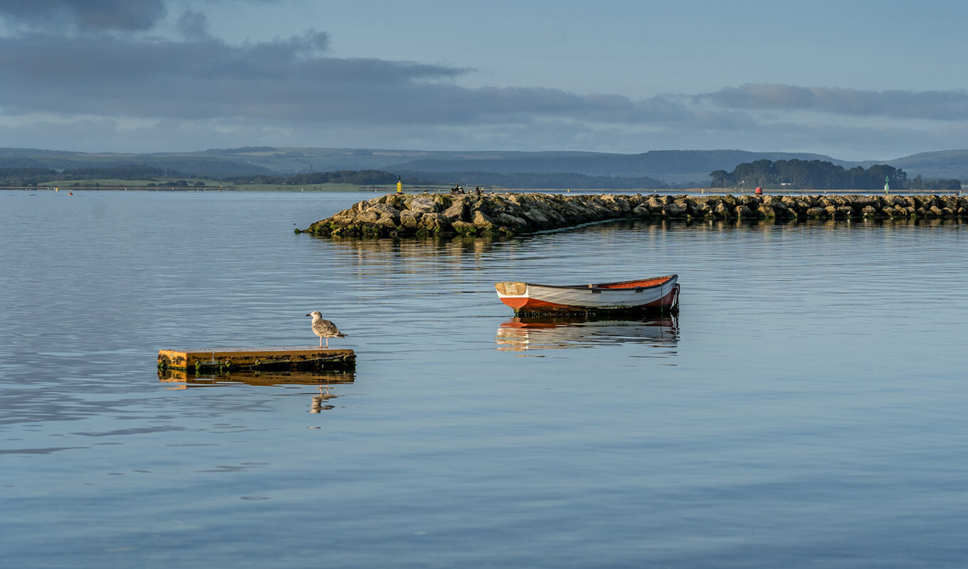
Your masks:
{"label": "long breakwater of piled brown rocks across the water", "polygon": [[381,195],[306,231],[333,237],[516,235],[621,219],[968,219],[960,195]]}

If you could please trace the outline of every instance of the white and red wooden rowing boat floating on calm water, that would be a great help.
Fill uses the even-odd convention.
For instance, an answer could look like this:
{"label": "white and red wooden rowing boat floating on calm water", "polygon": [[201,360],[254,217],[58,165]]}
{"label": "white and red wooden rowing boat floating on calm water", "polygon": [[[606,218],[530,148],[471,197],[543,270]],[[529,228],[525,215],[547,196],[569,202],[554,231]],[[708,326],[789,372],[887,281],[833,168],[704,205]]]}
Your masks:
{"label": "white and red wooden rowing boat floating on calm water", "polygon": [[598,314],[675,312],[679,308],[678,275],[619,283],[556,286],[506,281],[496,283],[498,298],[514,314]]}

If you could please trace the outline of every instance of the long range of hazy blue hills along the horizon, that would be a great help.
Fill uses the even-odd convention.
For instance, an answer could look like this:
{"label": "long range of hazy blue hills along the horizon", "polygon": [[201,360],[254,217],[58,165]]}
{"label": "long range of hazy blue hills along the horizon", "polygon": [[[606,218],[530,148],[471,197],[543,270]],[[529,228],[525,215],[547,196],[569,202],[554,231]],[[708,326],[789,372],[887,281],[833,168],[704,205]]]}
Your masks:
{"label": "long range of hazy blue hills along the horizon", "polygon": [[[909,177],[957,178],[968,181],[968,150],[926,152],[888,161],[849,162],[807,153],[749,152],[743,150],[653,150],[641,154],[598,152],[433,151],[358,148],[271,146],[212,149],[186,153],[89,154],[63,150],[0,148],[0,168],[52,169],[151,165],[184,176],[213,178],[248,174],[291,174],[337,170],[381,169],[446,183],[473,184],[467,176],[493,174],[501,185],[521,187],[535,175],[580,174],[651,180],[670,187],[704,186],[713,170],[732,170],[757,160],[820,160],[850,168],[887,164],[902,168]],[[528,174],[516,176],[516,174]],[[510,182],[510,184],[508,184]],[[478,182],[488,183],[488,182]],[[646,182],[643,182],[644,184]],[[607,185],[605,185],[607,187]],[[649,186],[643,186],[649,187]]]}

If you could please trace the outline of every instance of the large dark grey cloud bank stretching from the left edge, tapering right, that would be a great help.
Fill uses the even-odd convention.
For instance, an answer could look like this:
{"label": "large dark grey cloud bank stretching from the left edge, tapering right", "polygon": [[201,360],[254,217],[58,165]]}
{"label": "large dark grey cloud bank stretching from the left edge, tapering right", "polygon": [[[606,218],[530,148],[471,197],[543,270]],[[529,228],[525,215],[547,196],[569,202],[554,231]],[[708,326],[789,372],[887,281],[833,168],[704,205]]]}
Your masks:
{"label": "large dark grey cloud bank stretching from the left edge, tapering right", "polygon": [[0,38],[0,107],[7,114],[375,125],[528,124],[543,117],[706,128],[742,122],[738,111],[697,112],[674,96],[632,101],[540,87],[469,89],[454,82],[467,68],[324,57],[329,36],[322,31],[227,45],[206,35],[203,15],[188,12],[181,23],[195,39]]}

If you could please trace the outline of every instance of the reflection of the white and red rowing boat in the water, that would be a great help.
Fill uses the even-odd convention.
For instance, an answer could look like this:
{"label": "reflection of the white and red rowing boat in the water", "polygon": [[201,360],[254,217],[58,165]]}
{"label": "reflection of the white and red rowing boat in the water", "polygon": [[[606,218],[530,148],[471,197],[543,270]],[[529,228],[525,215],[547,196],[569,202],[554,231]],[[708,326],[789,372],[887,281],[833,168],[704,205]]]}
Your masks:
{"label": "reflection of the white and red rowing boat in the water", "polygon": [[667,314],[642,320],[601,317],[518,317],[500,324],[498,349],[561,349],[618,344],[674,347],[679,343],[679,318]]}

